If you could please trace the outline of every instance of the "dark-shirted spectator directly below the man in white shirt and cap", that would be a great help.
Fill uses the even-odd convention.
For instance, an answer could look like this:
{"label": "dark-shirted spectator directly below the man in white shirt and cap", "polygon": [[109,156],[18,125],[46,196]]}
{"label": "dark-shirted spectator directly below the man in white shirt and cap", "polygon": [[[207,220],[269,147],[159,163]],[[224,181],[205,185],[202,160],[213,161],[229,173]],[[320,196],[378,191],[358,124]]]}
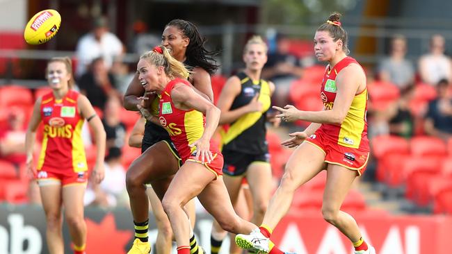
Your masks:
{"label": "dark-shirted spectator directly below the man in white shirt and cap", "polygon": [[113,75],[108,71],[104,58],[92,60],[90,69],[79,78],[80,92],[91,101],[92,106],[104,110],[108,96],[119,96],[115,90]]}

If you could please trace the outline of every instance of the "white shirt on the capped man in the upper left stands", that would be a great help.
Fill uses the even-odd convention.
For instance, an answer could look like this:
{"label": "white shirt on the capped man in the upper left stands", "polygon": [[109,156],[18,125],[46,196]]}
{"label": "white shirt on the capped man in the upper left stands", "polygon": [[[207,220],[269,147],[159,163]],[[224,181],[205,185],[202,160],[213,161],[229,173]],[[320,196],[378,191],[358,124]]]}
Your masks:
{"label": "white shirt on the capped man in the upper left stands", "polygon": [[106,67],[110,69],[113,58],[122,53],[122,42],[113,33],[106,32],[100,41],[95,39],[93,33],[83,35],[76,46],[76,57],[79,61],[76,68],[76,76],[86,72],[88,65],[95,58],[102,57]]}

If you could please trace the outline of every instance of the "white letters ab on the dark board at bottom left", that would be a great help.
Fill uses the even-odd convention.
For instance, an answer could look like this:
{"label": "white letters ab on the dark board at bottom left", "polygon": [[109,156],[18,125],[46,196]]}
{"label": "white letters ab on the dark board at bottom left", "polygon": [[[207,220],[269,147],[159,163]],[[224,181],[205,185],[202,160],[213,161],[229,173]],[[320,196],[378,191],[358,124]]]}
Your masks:
{"label": "white letters ab on the dark board at bottom left", "polygon": [[39,254],[42,252],[42,237],[39,230],[33,226],[24,225],[22,214],[9,214],[8,224],[10,225],[9,234],[6,228],[0,226],[1,254]]}

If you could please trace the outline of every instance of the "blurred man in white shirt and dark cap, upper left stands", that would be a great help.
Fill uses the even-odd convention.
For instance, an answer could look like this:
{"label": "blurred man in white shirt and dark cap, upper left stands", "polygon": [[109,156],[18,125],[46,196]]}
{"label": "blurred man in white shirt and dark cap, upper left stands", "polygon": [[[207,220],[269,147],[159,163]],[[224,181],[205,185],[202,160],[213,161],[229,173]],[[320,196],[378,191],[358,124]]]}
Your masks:
{"label": "blurred man in white shirt and dark cap, upper left stands", "polygon": [[76,76],[84,74],[88,65],[95,58],[104,58],[107,69],[113,63],[113,57],[124,52],[122,42],[113,33],[108,32],[106,17],[97,17],[92,22],[92,31],[80,38],[76,46],[76,57],[79,61]]}

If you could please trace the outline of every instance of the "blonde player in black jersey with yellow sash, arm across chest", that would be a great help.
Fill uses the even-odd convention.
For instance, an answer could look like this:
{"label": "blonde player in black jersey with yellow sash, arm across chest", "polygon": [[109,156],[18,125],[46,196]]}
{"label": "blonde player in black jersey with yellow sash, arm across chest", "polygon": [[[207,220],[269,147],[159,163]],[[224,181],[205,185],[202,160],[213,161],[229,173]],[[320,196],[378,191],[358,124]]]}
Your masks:
{"label": "blonde player in black jersey with yellow sash, arm across chest", "polygon": [[[260,78],[266,61],[265,42],[259,36],[252,37],[243,50],[245,70],[228,79],[218,99],[220,124],[228,125],[221,130],[225,185],[232,204],[236,205],[242,179],[248,180],[253,200],[251,221],[257,225],[264,218],[271,196],[271,188],[263,189],[262,186],[271,185],[272,179],[266,142],[266,112],[275,85]],[[225,236],[226,232],[214,222],[211,253],[218,253]]]}

